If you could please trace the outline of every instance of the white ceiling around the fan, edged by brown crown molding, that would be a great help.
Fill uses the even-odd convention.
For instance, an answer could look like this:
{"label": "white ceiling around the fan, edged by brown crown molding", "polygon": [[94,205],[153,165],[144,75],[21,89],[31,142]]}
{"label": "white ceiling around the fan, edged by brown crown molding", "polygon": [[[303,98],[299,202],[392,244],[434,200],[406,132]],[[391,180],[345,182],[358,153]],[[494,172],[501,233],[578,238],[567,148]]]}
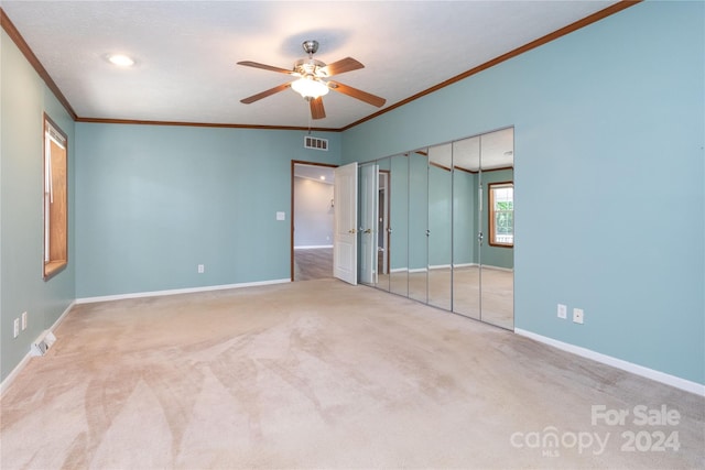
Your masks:
{"label": "white ceiling around the fan, edged by brown crown molding", "polygon": [[[79,118],[307,127],[289,81],[236,65],[291,68],[350,56],[365,68],[336,80],[392,106],[597,12],[616,1],[17,1],[2,9]],[[119,69],[105,56],[137,59]],[[340,129],[378,111],[332,91],[316,128]]]}

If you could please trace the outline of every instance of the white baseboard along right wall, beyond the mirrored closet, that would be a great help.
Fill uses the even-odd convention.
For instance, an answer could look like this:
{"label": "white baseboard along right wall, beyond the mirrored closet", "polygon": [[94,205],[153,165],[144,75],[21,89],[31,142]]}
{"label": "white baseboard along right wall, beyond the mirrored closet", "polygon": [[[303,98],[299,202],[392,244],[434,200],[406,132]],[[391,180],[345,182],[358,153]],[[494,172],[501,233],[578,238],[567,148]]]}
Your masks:
{"label": "white baseboard along right wall, beyond the mirrored closet", "polygon": [[582,348],[579,346],[571,345],[567,342],[558,341],[553,338],[536,335],[531,331],[514,328],[517,335],[533,339],[534,341],[543,342],[544,345],[553,346],[554,348],[562,349],[563,351],[571,352],[583,358],[592,359],[597,362],[601,362],[607,365],[611,365],[617,369],[621,369],[627,372],[631,372],[637,375],[644,376],[647,379],[654,380],[657,382],[664,383],[666,385],[674,386],[676,389],[684,390],[690,393],[694,393],[699,396],[705,396],[705,384],[692,382],[690,380],[681,379],[675,375],[666,374],[653,369],[644,368],[643,365],[634,364],[621,359],[612,358],[611,356],[595,352],[590,349]]}

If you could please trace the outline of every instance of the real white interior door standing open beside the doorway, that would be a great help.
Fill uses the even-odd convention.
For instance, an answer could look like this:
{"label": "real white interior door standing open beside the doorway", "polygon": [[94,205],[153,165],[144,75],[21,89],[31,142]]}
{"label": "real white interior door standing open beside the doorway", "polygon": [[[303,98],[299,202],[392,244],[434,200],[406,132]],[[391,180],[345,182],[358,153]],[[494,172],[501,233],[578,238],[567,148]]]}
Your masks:
{"label": "real white interior door standing open beside the doorway", "polygon": [[335,168],[333,275],[357,284],[357,163]]}

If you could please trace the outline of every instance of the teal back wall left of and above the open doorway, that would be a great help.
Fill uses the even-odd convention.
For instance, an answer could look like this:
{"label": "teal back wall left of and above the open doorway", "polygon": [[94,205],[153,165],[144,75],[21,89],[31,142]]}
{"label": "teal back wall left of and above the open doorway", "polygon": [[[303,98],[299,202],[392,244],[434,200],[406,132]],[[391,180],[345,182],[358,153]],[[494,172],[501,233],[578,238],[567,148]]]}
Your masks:
{"label": "teal back wall left of and above the open doorway", "polygon": [[291,161],[340,160],[304,133],[77,123],[77,297],[289,278]]}

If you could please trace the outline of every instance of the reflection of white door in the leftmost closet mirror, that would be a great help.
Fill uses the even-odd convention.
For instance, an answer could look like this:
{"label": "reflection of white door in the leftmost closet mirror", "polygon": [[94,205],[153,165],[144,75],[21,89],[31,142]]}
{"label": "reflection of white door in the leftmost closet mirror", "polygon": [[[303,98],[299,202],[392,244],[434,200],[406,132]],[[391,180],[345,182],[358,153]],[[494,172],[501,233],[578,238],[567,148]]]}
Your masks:
{"label": "reflection of white door in the leftmost closet mirror", "polygon": [[377,199],[378,182],[375,163],[360,166],[360,282],[377,283]]}

